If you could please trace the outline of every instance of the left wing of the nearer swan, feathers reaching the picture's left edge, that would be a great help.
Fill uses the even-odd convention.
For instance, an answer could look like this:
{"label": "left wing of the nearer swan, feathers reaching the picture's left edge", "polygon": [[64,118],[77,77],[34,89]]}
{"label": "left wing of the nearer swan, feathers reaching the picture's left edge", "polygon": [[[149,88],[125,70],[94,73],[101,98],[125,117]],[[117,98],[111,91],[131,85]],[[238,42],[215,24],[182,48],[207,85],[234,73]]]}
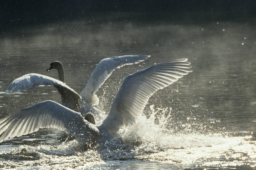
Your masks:
{"label": "left wing of the nearer swan, feathers reaching the picture's left edge", "polygon": [[78,141],[90,142],[98,129],[80,113],[53,101],[44,101],[21,109],[0,120],[0,142],[38,131],[39,128],[57,128],[68,131]]}

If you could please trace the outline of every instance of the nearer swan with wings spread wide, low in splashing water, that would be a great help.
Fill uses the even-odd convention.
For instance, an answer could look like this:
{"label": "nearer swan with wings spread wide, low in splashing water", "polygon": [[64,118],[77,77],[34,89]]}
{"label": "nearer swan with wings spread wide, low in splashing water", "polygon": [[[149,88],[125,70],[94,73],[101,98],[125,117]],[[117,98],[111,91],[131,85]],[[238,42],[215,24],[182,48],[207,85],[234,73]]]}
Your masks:
{"label": "nearer swan with wings spread wide, low in splashing water", "polygon": [[135,123],[153,93],[192,72],[190,68],[190,63],[183,58],[128,75],[108,116],[96,125],[85,120],[81,113],[49,100],[23,108],[0,120],[0,142],[36,132],[39,128],[57,128],[67,131],[88,148],[104,144],[115,138],[122,126]]}

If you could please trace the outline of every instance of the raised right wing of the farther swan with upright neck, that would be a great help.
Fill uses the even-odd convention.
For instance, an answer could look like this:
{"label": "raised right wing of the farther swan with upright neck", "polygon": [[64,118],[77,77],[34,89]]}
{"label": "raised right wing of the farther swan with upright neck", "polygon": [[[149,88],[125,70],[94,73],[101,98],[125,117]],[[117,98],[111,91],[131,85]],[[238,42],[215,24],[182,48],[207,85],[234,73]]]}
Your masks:
{"label": "raised right wing of the farther swan with upright neck", "polygon": [[125,65],[137,64],[148,59],[150,55],[126,55],[119,57],[104,58],[91,74],[85,88],[80,93],[82,98],[87,102],[95,104],[98,100],[94,93],[107,80],[116,68],[121,68]]}

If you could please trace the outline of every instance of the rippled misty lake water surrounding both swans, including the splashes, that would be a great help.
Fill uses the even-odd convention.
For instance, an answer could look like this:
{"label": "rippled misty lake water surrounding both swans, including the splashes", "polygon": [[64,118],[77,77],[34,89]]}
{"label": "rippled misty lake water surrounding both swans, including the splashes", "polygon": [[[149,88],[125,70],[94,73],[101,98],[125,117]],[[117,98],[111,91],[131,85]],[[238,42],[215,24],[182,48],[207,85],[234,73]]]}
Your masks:
{"label": "rippled misty lake water surrounding both swans, including the splashes", "polygon": [[[99,89],[109,112],[128,74],[177,58],[193,72],[149,100],[137,122],[123,128],[123,145],[84,151],[63,132],[42,129],[0,143],[3,169],[255,169],[255,24],[201,25],[138,22],[61,22],[21,28],[0,39],[0,118],[44,100],[60,101],[51,86],[18,93],[5,89],[27,73],[46,72],[58,60],[65,81],[84,88],[103,58],[150,54],[147,61],[117,69]],[[100,122],[106,115],[97,118]],[[109,143],[111,145],[111,143]]]}

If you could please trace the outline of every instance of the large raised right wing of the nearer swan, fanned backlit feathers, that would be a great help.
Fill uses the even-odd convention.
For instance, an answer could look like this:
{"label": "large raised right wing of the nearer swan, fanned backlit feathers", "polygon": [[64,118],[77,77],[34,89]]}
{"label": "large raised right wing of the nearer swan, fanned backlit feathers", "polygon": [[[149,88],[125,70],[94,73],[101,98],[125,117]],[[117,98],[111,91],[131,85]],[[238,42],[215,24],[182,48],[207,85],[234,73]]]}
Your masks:
{"label": "large raised right wing of the nearer swan, fanned backlit feathers", "polygon": [[190,68],[190,63],[184,58],[159,63],[127,76],[101,126],[117,132],[123,124],[134,123],[153,93],[192,72]]}

